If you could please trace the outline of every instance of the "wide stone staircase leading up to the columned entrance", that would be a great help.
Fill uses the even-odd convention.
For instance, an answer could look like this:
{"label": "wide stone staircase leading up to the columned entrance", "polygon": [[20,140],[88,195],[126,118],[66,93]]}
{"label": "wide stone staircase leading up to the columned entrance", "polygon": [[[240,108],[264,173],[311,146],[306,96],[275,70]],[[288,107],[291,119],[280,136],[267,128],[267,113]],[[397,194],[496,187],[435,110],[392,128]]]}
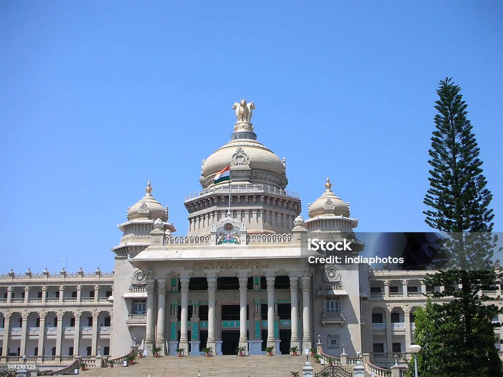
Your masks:
{"label": "wide stone staircase leading up to the columned entrance", "polygon": [[[304,356],[146,356],[136,358],[134,364],[124,367],[91,368],[79,371],[84,377],[288,377],[290,371],[297,371],[302,376]],[[325,365],[309,357],[309,362],[317,373]],[[353,373],[352,365],[345,369]],[[370,374],[365,374],[370,377]]]}

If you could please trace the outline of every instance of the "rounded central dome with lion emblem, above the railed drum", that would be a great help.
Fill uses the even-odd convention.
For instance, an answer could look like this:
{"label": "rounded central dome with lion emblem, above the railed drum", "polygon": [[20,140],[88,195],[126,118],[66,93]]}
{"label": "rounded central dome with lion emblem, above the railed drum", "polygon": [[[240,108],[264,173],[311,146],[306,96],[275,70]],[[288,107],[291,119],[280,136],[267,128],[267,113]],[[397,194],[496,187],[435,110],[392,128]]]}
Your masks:
{"label": "rounded central dome with lion emblem, above the railed drum", "polygon": [[[250,123],[253,103],[245,100],[235,103],[237,122],[230,141],[217,149],[201,167],[200,182],[204,189],[211,187],[214,176],[230,165],[232,183],[269,184],[284,189],[287,185],[285,159],[283,161],[269,148],[257,141],[253,124]],[[243,115],[245,113],[245,115]],[[226,184],[226,182],[219,183]]]}

